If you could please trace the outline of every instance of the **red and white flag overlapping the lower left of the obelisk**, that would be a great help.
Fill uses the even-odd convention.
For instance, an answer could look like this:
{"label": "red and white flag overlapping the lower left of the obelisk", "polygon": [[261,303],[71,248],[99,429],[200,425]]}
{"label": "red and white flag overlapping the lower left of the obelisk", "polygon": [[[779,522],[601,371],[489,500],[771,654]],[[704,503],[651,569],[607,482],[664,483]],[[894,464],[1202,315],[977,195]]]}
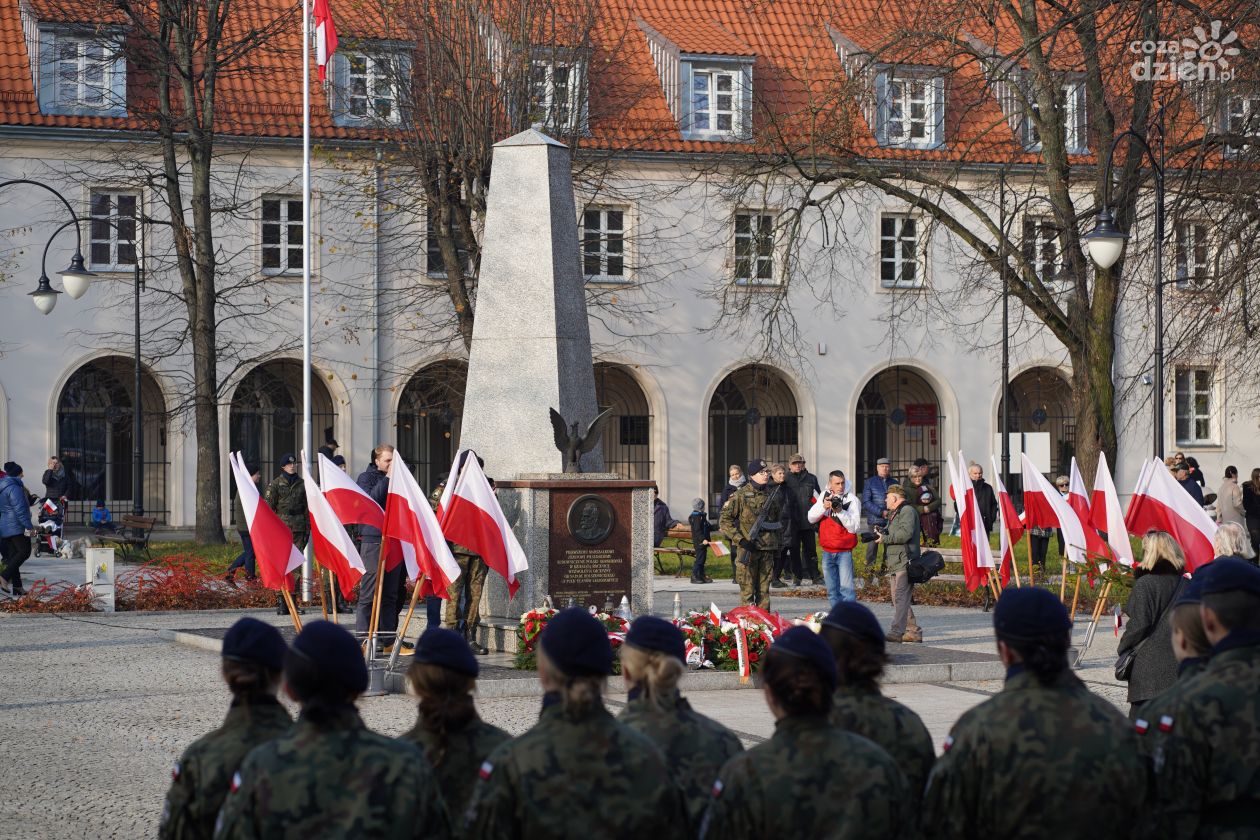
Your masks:
{"label": "red and white flag overlapping the lower left of the obelisk", "polygon": [[509,597],[515,596],[520,588],[517,576],[529,568],[529,560],[475,453],[464,458],[459,477],[446,486],[450,495],[444,492],[438,520],[446,539],[480,554],[485,564],[508,582]]}

